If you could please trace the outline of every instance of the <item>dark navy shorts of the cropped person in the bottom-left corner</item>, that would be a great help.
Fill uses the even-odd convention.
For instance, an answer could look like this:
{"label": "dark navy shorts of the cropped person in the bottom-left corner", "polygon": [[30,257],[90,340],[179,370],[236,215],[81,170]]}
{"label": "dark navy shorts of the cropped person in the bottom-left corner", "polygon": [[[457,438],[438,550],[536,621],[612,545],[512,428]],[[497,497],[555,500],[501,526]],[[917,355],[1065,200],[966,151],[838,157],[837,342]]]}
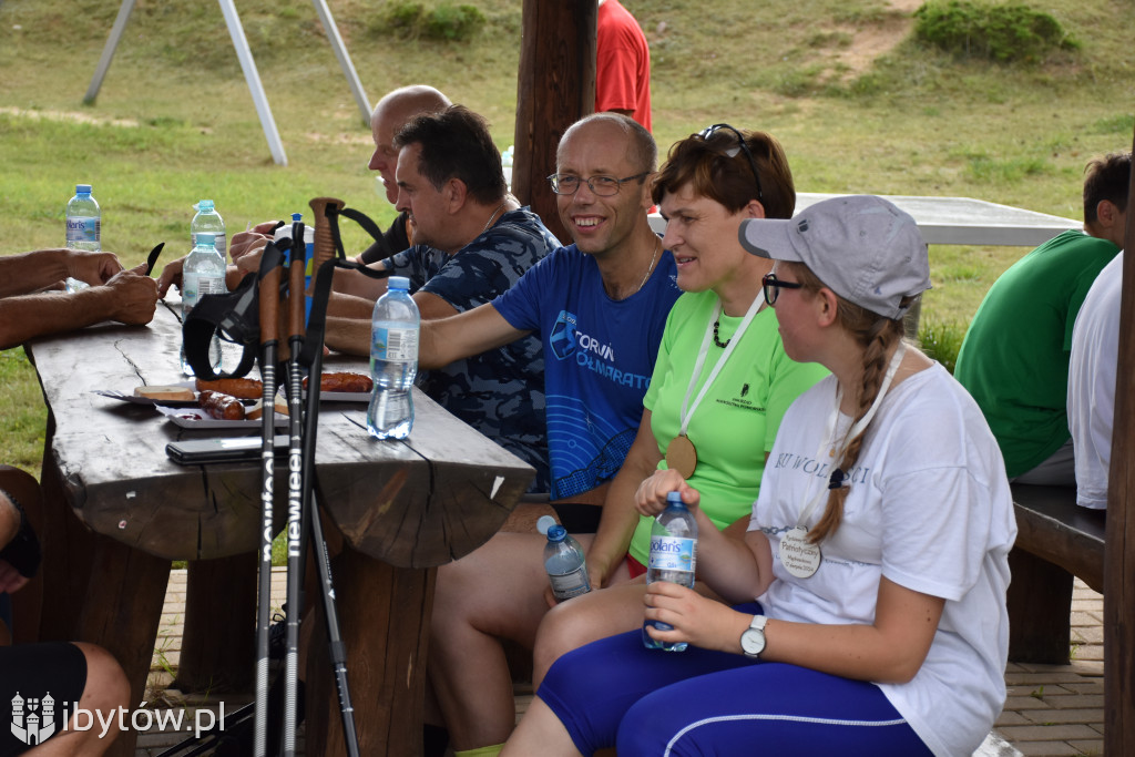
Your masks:
{"label": "dark navy shorts of the cropped person in the bottom-left corner", "polygon": [[86,657],[73,644],[0,647],[0,757],[15,757],[60,733],[86,688]]}

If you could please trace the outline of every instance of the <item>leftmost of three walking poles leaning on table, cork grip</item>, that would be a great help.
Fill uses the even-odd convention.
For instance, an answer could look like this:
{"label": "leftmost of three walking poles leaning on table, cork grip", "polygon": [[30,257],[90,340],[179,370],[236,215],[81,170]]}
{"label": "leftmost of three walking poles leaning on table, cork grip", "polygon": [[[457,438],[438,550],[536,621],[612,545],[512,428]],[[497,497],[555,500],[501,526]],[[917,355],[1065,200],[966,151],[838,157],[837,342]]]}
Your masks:
{"label": "leftmost of three walking poles leaning on table, cork grip", "polygon": [[253,730],[254,757],[268,755],[268,625],[271,622],[272,590],[272,477],[276,459],[276,345],[279,342],[280,255],[276,245],[264,247],[260,259],[260,378],[263,381],[263,446],[260,465],[260,588],[257,596],[257,707]]}

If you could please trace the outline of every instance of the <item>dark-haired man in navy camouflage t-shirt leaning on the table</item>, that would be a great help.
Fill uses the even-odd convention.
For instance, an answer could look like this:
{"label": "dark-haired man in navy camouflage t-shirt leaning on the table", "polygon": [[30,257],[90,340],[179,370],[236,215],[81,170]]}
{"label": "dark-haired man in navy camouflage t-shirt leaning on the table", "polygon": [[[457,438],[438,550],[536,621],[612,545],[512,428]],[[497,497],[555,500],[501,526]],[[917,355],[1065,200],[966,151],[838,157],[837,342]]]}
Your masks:
{"label": "dark-haired man in navy camouflage t-shirt leaning on the table", "polygon": [[[414,246],[375,263],[410,279],[423,322],[472,310],[506,292],[560,242],[507,194],[485,119],[461,106],[412,118],[395,136],[397,208],[414,222]],[[385,281],[384,286],[385,288]],[[370,354],[373,300],[336,295],[327,344]],[[548,491],[540,340],[526,337],[435,367],[421,389],[536,469]]]}

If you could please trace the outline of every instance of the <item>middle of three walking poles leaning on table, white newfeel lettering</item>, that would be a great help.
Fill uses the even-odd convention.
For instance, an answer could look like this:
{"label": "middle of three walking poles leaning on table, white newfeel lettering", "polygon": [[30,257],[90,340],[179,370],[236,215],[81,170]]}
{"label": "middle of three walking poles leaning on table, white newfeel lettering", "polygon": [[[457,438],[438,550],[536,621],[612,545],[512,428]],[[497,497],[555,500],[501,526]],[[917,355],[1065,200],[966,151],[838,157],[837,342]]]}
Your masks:
{"label": "middle of three walking poles leaning on table, white newfeel lettering", "polygon": [[306,263],[303,242],[303,221],[292,224],[292,262],[288,266],[287,340],[288,340],[288,488],[287,488],[287,649],[284,653],[284,757],[295,757],[297,723],[297,692],[300,688],[300,616],[303,614],[303,560],[305,539],[304,497],[302,470],[303,405],[300,396],[303,386],[300,352],[303,348],[304,268]]}

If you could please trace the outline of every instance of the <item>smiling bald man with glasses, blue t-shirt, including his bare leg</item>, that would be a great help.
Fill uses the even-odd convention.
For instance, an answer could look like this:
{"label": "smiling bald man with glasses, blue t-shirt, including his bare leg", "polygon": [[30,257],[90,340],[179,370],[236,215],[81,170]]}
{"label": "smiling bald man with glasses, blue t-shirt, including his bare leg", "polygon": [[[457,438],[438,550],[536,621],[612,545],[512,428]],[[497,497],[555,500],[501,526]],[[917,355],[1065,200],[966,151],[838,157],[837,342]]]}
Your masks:
{"label": "smiling bald man with glasses, blue t-shirt, including his bare leg", "polygon": [[[427,368],[526,335],[540,338],[552,504],[577,533],[594,532],[597,518],[568,515],[604,510],[591,505],[604,503],[638,434],[666,316],[680,294],[674,259],[647,221],[656,160],[649,132],[625,116],[596,113],[574,124],[550,177],[574,244],[550,253],[491,303],[422,327],[419,360]],[[508,528],[519,528],[515,522]],[[523,537],[526,547],[531,540],[499,533],[438,570],[428,662],[459,754],[511,730],[501,639],[531,648],[547,611],[539,547],[529,558],[510,537]]]}

